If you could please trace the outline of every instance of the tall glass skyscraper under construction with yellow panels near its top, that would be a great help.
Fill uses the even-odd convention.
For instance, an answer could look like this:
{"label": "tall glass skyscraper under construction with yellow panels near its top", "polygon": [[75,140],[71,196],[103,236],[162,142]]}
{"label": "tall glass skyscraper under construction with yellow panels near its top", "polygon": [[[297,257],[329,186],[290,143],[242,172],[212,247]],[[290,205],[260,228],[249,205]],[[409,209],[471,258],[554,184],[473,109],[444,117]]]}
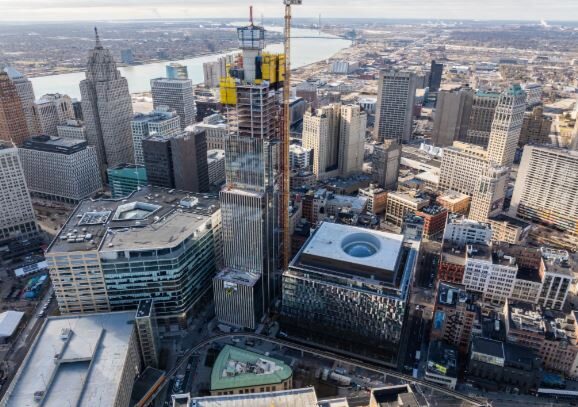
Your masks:
{"label": "tall glass skyscraper under construction with yellow panels near its top", "polygon": [[242,54],[220,81],[229,131],[220,197],[224,268],[213,289],[219,321],[255,328],[268,310],[279,268],[284,56],[263,52],[265,30],[252,21],[237,33]]}

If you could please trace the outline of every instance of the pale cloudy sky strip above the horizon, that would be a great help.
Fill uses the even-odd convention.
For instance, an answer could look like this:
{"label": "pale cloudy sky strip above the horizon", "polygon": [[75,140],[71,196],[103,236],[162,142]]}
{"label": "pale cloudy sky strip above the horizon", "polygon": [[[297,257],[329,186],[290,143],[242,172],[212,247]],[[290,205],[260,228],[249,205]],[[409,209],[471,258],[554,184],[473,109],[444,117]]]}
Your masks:
{"label": "pale cloudy sky strip above the horizon", "polygon": [[[295,17],[578,20],[578,0],[303,0]],[[281,17],[281,0],[0,0],[0,20]]]}

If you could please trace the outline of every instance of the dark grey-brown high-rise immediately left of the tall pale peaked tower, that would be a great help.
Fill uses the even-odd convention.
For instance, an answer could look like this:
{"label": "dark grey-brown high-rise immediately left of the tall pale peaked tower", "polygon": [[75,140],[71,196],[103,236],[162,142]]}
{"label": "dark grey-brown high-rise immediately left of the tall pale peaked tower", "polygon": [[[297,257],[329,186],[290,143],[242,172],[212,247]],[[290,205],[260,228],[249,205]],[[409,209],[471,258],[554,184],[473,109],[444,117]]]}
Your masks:
{"label": "dark grey-brown high-rise immediately left of the tall pale peaked tower", "polygon": [[477,91],[475,93],[468,131],[465,139],[460,139],[460,141],[483,148],[488,147],[499,98],[500,94],[496,92]]}

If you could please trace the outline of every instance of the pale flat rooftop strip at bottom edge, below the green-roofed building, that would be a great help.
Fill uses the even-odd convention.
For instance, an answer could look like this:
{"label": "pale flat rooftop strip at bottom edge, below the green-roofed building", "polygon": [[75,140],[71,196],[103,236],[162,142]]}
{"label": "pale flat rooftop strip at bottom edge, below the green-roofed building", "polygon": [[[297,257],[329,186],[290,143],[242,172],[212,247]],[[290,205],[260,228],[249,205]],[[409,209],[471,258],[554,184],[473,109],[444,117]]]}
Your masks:
{"label": "pale flat rooftop strip at bottom edge, below the green-roofed building", "polygon": [[267,393],[193,398],[196,407],[317,407],[313,387]]}

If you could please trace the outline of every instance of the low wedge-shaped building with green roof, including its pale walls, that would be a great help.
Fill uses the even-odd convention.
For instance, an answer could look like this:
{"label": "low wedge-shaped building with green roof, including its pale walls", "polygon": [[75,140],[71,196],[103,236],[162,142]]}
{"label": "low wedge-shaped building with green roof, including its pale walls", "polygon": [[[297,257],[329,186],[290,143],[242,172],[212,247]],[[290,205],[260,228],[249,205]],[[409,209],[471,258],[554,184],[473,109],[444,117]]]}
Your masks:
{"label": "low wedge-shaped building with green roof, including its pale walls", "polygon": [[217,356],[211,372],[211,395],[265,393],[293,387],[285,362],[231,345]]}

